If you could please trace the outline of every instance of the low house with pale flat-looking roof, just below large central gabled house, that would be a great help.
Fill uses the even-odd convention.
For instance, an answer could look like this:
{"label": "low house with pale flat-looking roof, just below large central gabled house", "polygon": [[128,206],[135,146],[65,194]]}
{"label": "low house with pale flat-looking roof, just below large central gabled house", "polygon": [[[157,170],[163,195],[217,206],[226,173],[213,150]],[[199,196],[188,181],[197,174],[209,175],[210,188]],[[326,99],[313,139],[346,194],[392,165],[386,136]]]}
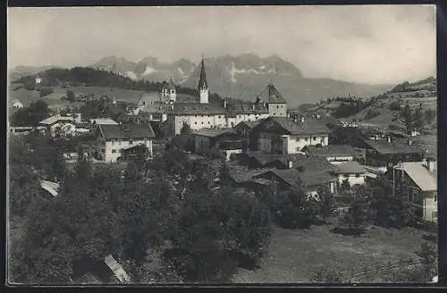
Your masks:
{"label": "low house with pale flat-looking roof, just below large central gabled house", "polygon": [[301,152],[308,156],[324,157],[329,162],[354,160],[354,149],[350,145],[306,146]]}

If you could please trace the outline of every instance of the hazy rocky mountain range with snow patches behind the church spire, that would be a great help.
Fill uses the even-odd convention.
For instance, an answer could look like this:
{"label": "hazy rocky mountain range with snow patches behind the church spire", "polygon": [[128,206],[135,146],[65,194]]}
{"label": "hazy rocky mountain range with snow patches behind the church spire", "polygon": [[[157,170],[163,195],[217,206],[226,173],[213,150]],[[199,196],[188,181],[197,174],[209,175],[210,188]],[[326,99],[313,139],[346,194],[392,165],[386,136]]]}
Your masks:
{"label": "hazy rocky mountain range with snow patches behind the church spire", "polygon": [[[174,83],[185,88],[197,88],[200,68],[197,63],[180,59],[164,63],[148,56],[139,62],[131,62],[122,57],[107,56],[88,67],[113,71],[131,80],[164,81],[173,79]],[[55,66],[53,66],[55,67]],[[51,68],[18,67],[10,72],[20,76],[30,71]],[[256,54],[229,54],[205,59],[207,81],[210,92],[221,96],[232,96],[243,100],[255,100],[256,96],[269,82],[274,83],[290,104],[296,107],[305,103],[316,103],[333,96],[373,96],[392,88],[391,85],[369,85],[342,80],[309,79],[303,77],[299,69],[278,55],[261,58]],[[13,74],[13,75],[11,75]]]}

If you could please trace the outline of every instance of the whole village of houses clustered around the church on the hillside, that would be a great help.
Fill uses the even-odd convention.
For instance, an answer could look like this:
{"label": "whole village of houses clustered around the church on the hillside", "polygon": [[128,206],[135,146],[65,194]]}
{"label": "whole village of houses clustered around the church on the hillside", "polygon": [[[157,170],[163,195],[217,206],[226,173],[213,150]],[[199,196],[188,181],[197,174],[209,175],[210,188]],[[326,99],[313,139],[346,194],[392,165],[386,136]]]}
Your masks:
{"label": "whole village of houses clustered around the church on the hillside", "polygon": [[[38,85],[43,79],[34,81]],[[215,172],[211,190],[225,181],[247,194],[298,189],[318,201],[325,188],[340,211],[350,207],[350,190],[371,190],[383,178],[394,195],[413,206],[417,222],[437,222],[437,149],[435,141],[426,141],[430,134],[424,132],[428,124],[421,110],[421,99],[437,95],[435,82],[427,80],[422,88],[405,84],[370,99],[333,97],[291,110],[273,83],[249,102],[211,98],[213,80],[207,80],[202,60],[197,90],[189,94],[179,93],[169,80],[133,103],[110,95],[76,96],[70,85],[64,90],[76,103],[72,106],[52,111],[45,95],[30,105],[14,100],[9,135],[49,136],[66,146],[61,149],[69,164],[84,157],[94,164],[139,160],[144,165],[177,149],[192,161],[210,158],[225,166],[225,172]],[[63,182],[49,176],[41,180],[56,197]],[[120,278],[128,279],[114,256],[105,263],[120,265],[126,276]]]}

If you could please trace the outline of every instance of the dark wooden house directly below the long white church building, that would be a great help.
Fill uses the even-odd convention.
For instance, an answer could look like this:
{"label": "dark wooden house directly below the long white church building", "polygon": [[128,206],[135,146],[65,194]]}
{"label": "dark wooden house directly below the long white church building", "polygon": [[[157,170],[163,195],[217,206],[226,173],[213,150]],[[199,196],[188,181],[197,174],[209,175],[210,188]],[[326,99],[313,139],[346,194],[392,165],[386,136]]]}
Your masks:
{"label": "dark wooden house directly below the long white church building", "polygon": [[195,153],[204,153],[208,150],[222,152],[226,161],[230,161],[231,155],[242,153],[244,140],[233,129],[200,129],[191,134],[194,139]]}

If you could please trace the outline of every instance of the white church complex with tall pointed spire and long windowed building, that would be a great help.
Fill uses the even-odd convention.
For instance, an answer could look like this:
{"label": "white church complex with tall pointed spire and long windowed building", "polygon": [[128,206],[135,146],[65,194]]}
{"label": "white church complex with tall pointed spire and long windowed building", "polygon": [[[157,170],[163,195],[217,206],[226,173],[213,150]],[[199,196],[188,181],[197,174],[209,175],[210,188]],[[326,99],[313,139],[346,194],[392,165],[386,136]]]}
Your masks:
{"label": "white church complex with tall pointed spire and long windowed building", "polygon": [[[145,102],[141,99],[140,114],[146,114],[150,121],[167,120],[169,135],[177,135],[181,134],[186,124],[190,130],[231,128],[241,121],[286,116],[287,112],[286,102],[273,84],[268,84],[255,102],[227,102],[223,99],[221,103],[210,103],[203,59],[200,63],[198,93],[198,99],[192,96],[184,98],[184,95],[176,93],[173,80],[164,82],[160,92],[153,97],[154,101]],[[154,111],[161,113],[158,115]]]}

